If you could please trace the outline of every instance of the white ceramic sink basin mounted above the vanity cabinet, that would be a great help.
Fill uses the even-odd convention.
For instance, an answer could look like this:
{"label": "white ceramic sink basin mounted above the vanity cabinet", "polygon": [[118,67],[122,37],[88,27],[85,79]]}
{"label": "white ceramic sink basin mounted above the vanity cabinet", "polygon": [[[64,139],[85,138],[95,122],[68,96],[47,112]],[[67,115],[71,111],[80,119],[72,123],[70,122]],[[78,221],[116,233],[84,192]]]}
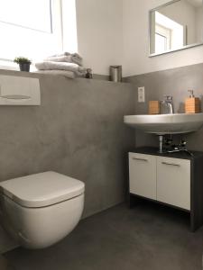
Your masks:
{"label": "white ceramic sink basin mounted above the vanity cabinet", "polygon": [[125,115],[124,121],[146,133],[181,134],[199,130],[203,126],[203,113]]}

